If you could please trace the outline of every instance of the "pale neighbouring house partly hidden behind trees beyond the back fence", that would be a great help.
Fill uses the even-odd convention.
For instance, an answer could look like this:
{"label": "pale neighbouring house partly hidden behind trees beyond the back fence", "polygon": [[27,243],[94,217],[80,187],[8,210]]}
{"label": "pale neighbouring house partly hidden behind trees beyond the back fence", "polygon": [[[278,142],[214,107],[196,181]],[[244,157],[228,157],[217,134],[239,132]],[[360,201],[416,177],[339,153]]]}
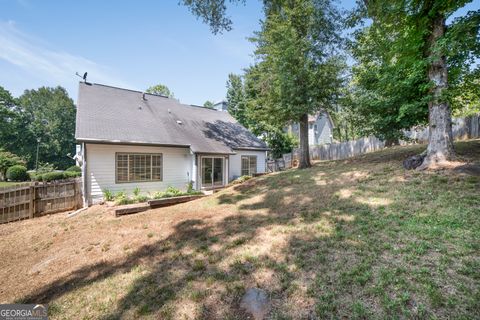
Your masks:
{"label": "pale neighbouring house partly hidden behind trees beyond the back fence", "polygon": [[[333,143],[333,125],[332,118],[327,111],[320,111],[315,115],[308,116],[308,144],[327,144]],[[299,137],[300,126],[298,123],[292,123],[285,128],[286,132],[290,132]]]}

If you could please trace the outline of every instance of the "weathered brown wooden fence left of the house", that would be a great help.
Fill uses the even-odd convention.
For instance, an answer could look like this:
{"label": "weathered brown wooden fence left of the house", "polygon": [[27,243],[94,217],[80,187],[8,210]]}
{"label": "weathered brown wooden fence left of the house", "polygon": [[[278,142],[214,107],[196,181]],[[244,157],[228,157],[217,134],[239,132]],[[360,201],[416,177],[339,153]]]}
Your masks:
{"label": "weathered brown wooden fence left of the house", "polygon": [[0,188],[0,223],[82,206],[81,179],[31,182]]}

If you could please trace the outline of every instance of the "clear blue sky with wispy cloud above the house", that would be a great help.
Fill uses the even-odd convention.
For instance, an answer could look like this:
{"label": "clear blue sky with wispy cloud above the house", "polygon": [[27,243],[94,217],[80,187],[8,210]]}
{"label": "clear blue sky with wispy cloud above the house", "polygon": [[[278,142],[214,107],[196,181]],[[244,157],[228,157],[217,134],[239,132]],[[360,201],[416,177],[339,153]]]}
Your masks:
{"label": "clear blue sky with wispy cloud above the house", "polygon": [[[478,9],[480,1],[462,9]],[[340,6],[351,9],[354,0]],[[162,83],[183,103],[225,98],[229,73],[253,62],[248,37],[261,1],[229,5],[233,30],[214,35],[177,0],[0,0],[0,86],[62,86],[77,100],[78,78],[134,90]]]}

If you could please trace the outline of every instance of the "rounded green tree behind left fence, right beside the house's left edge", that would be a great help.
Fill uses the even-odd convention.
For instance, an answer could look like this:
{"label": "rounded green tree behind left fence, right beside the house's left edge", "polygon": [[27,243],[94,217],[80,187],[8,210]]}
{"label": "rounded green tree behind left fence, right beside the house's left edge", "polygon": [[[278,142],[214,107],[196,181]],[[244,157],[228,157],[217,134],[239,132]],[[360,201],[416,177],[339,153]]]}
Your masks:
{"label": "rounded green tree behind left fence, right beside the house's left edge", "polygon": [[16,112],[21,131],[16,132],[16,145],[9,150],[27,160],[34,167],[38,158],[58,168],[67,168],[74,162],[68,156],[75,150],[75,114],[73,100],[62,87],[42,87],[25,90],[17,99]]}

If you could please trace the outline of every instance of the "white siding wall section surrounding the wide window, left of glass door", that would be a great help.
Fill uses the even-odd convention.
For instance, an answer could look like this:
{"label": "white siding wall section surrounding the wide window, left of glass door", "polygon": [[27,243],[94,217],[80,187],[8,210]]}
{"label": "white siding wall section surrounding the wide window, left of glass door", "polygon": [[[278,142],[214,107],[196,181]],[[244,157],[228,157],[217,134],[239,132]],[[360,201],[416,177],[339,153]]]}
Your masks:
{"label": "white siding wall section surrounding the wide window, left of glass door", "polygon": [[[125,191],[132,194],[138,187],[142,194],[162,191],[168,186],[185,190],[192,177],[193,156],[189,148],[167,148],[129,145],[87,144],[87,185],[90,202],[103,198],[103,191]],[[115,183],[115,153],[161,153],[163,181]]]}

